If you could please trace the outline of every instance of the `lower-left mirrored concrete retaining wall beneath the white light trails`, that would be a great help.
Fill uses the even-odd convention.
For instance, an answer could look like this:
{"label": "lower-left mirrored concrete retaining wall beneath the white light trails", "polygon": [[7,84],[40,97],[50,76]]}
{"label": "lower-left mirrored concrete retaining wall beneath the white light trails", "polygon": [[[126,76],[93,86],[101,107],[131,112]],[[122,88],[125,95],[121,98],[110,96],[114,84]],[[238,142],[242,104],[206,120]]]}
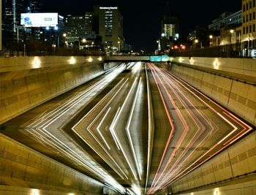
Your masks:
{"label": "lower-left mirrored concrete retaining wall beneath the white light trails", "polygon": [[0,134],[0,194],[32,194],[32,188],[48,194],[102,194],[103,187],[102,183]]}

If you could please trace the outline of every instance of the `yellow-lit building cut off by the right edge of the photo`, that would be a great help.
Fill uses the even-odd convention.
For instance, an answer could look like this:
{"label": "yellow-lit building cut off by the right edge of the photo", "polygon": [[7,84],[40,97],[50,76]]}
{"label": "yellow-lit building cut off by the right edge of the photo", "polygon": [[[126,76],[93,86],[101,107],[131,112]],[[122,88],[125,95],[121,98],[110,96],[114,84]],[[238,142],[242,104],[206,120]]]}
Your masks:
{"label": "yellow-lit building cut off by the right edge of the photo", "polygon": [[256,57],[256,0],[241,0],[243,9],[243,56]]}

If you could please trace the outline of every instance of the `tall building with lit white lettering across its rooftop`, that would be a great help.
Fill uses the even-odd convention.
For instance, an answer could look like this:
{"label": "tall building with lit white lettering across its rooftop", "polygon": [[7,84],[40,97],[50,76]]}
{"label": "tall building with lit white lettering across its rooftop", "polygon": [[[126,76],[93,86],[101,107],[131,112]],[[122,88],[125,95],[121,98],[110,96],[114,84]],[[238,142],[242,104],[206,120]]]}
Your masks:
{"label": "tall building with lit white lettering across its rooftop", "polygon": [[94,28],[106,47],[124,48],[123,16],[118,7],[94,6]]}

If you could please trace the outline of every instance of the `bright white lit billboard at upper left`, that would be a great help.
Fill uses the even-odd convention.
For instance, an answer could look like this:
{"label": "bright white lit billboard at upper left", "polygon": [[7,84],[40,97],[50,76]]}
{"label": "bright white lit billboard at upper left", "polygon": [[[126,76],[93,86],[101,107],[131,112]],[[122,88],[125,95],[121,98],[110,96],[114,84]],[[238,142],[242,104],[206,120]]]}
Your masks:
{"label": "bright white lit billboard at upper left", "polygon": [[47,27],[58,25],[58,13],[23,13],[20,25],[25,27]]}

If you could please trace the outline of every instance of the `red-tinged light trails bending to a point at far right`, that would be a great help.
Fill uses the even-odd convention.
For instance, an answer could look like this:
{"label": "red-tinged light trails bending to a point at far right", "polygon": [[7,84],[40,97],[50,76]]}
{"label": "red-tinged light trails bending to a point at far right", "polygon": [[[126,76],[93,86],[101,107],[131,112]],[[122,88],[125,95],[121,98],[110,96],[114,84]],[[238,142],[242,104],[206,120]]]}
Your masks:
{"label": "red-tinged light trails bending to a point at far right", "polygon": [[[187,144],[187,146],[185,147],[184,151],[176,158],[176,162],[172,165],[172,168],[168,168],[169,171],[167,172],[167,174],[166,174],[164,177],[162,177],[163,174],[164,174],[164,172],[165,172],[165,170],[166,170],[167,167],[168,167],[168,164],[170,164],[170,161],[172,160],[172,156],[173,156],[173,155],[171,155],[171,156],[169,157],[169,160],[167,161],[167,164],[165,164],[165,168],[162,170],[162,173],[158,174],[158,172],[157,172],[156,175],[154,176],[154,179],[155,179],[156,177],[158,177],[158,180],[153,180],[153,182],[151,183],[151,188],[149,189],[148,194],[152,194],[152,193],[156,192],[156,191],[159,190],[159,189],[166,188],[166,187],[169,186],[171,183],[176,182],[176,181],[179,180],[181,177],[184,177],[184,175],[187,175],[189,172],[192,172],[192,170],[196,169],[197,167],[199,167],[201,164],[203,164],[203,163],[205,163],[206,161],[208,161],[208,160],[209,160],[210,158],[212,158],[213,156],[216,156],[219,152],[221,152],[222,150],[224,150],[225,148],[227,148],[227,145],[230,145],[231,143],[235,142],[235,140],[239,139],[239,138],[242,137],[244,134],[246,134],[246,133],[248,133],[249,131],[251,131],[251,130],[252,130],[252,127],[248,126],[246,123],[244,123],[243,121],[241,121],[241,120],[238,119],[238,118],[236,118],[236,119],[231,118],[231,115],[229,115],[230,112],[228,112],[228,111],[225,110],[223,107],[221,107],[219,104],[217,104],[216,102],[213,102],[211,99],[209,99],[209,98],[208,98],[207,96],[205,96],[203,93],[200,93],[200,91],[197,91],[197,90],[196,90],[195,88],[193,88],[191,85],[188,85],[188,84],[185,83],[183,80],[179,79],[178,77],[176,77],[175,75],[171,74],[170,72],[167,72],[166,70],[163,70],[163,69],[162,69],[162,71],[160,71],[159,68],[157,68],[156,66],[152,67],[153,65],[151,65],[151,64],[148,65],[148,66],[149,66],[150,69],[151,69],[151,72],[152,72],[152,75],[153,75],[153,77],[154,77],[155,83],[157,83],[157,88],[159,89],[159,85],[160,85],[160,84],[162,85],[162,89],[163,89],[163,91],[165,91],[165,94],[166,94],[165,97],[167,97],[167,99],[169,99],[169,101],[173,104],[174,110],[177,110],[178,107],[176,107],[175,102],[173,102],[173,100],[172,100],[173,97],[170,96],[170,92],[167,90],[167,88],[165,88],[165,84],[162,82],[162,79],[165,80],[166,85],[167,85],[167,86],[170,88],[170,90],[176,95],[176,99],[184,106],[184,108],[186,107],[186,104],[183,103],[183,100],[179,97],[178,93],[176,93],[176,91],[175,91],[174,88],[173,88],[173,87],[175,87],[176,90],[179,91],[179,93],[181,93],[182,96],[184,96],[185,99],[187,99],[186,96],[184,95],[184,93],[181,92],[181,90],[177,88],[178,85],[181,85],[182,88],[184,88],[184,89],[186,89],[187,91],[189,91],[189,93],[191,93],[193,96],[195,96],[197,99],[199,99],[200,102],[202,102],[203,104],[206,104],[206,106],[207,106],[212,112],[214,112],[215,115],[217,115],[219,118],[221,118],[221,120],[223,121],[223,123],[227,123],[228,126],[230,126],[230,127],[232,128],[232,130],[231,130],[230,132],[228,132],[227,134],[225,134],[225,136],[222,137],[222,139],[220,139],[219,142],[217,142],[216,144],[214,144],[213,146],[211,146],[211,148],[209,148],[206,153],[203,153],[203,155],[199,156],[199,158],[197,158],[197,160],[194,161],[192,164],[189,164],[189,166],[188,166],[186,169],[181,170],[181,168],[184,167],[185,162],[186,162],[187,160],[189,160],[189,158],[192,156],[192,153],[195,152],[196,148],[199,148],[200,145],[203,145],[203,143],[207,141],[207,139],[211,136],[211,134],[214,134],[214,133],[217,132],[218,129],[219,129],[218,126],[216,126],[216,125],[214,125],[214,124],[211,124],[211,122],[208,122],[208,121],[207,121],[208,118],[206,117],[206,115],[203,114],[203,112],[200,113],[199,110],[195,109],[196,112],[198,113],[198,116],[200,115],[200,117],[202,117],[203,120],[206,121],[206,123],[208,123],[208,125],[211,127],[211,130],[210,130],[211,134],[208,134],[207,137],[204,137],[203,140],[201,140],[201,141],[198,143],[198,145],[194,148],[194,150],[189,154],[189,156],[187,156],[187,158],[185,158],[185,159],[183,160],[183,162],[178,163],[178,161],[181,160],[181,157],[185,154],[184,151],[185,151],[185,150],[188,150],[189,147],[192,146],[192,145],[191,145],[192,142],[195,142],[195,141],[192,141],[192,140],[195,138],[196,134],[197,134],[197,137],[199,138],[199,137],[202,135],[203,131],[206,130],[206,127],[203,128],[204,130],[203,130],[203,129],[198,129],[199,134],[196,133],[196,134],[194,135],[194,137],[192,137],[192,139],[190,139],[190,141],[189,141],[189,143]],[[165,73],[165,74],[164,74],[164,73]],[[156,76],[154,76],[154,74],[155,74]],[[158,76],[158,74],[159,74],[159,76]],[[160,75],[161,75],[161,78],[160,78]],[[174,85],[174,84],[171,84],[172,82],[171,82],[170,78],[168,78],[167,76],[170,77],[170,78],[173,78],[173,81],[176,80],[177,83],[176,83],[175,85]],[[157,80],[156,80],[155,77],[157,77]],[[159,84],[158,84],[158,83],[159,83]],[[173,85],[173,87],[172,87],[171,85]],[[187,86],[188,86],[188,87],[187,87]],[[213,103],[214,105],[217,105],[217,107],[218,107],[219,109],[223,110],[223,115],[222,115],[221,112],[218,112],[217,110],[215,110],[214,107],[212,107],[210,104],[208,104],[208,103],[207,103],[206,101],[204,101],[202,98],[200,98],[199,96],[197,96],[197,94],[195,94],[195,93],[194,93],[192,90],[190,90],[189,88],[192,88],[193,90],[197,91],[198,93],[200,93],[200,95],[202,95],[204,98],[206,98],[209,102]],[[160,90],[159,90],[159,93],[160,93],[160,96],[162,96],[162,95],[161,95],[162,92],[161,92]],[[192,104],[191,101],[189,101],[189,99],[187,99],[187,102],[189,102],[189,104],[191,104],[192,107],[195,108],[195,106]],[[195,116],[192,117],[192,115],[189,114],[190,111],[188,111],[188,110],[185,110],[185,111],[188,112],[188,116],[189,116],[190,118],[192,118],[192,119],[194,118],[194,119],[196,120],[196,121],[194,120],[194,123],[197,124],[198,121],[199,121],[199,119],[197,119],[197,117],[195,117]],[[178,114],[178,112],[177,112],[177,114]],[[192,114],[192,113],[191,113],[191,114]],[[179,118],[181,118],[181,115],[180,115],[180,114],[178,114],[178,115],[179,115]],[[226,116],[226,117],[225,117],[225,116]],[[228,118],[230,118],[232,121],[230,121]],[[237,120],[237,121],[236,121],[236,120]],[[175,121],[175,122],[176,122],[176,121]],[[239,130],[239,132],[238,132],[237,134],[234,134],[234,133],[235,133],[236,131],[238,131],[238,126],[236,126],[236,124],[233,123],[233,122],[235,122],[236,124],[238,124],[238,126],[241,126],[241,129],[242,129],[242,130],[241,130],[241,131]],[[215,127],[214,127],[213,125],[214,125]],[[201,123],[200,126],[203,127],[203,124]],[[199,126],[197,126],[197,127],[199,127]],[[246,130],[245,127],[248,128],[248,130]],[[215,130],[214,130],[214,129],[215,129]],[[200,130],[200,131],[199,131],[199,130]],[[182,134],[182,135],[184,135],[184,134]],[[180,142],[180,141],[181,141],[182,138],[184,138],[184,137],[182,137],[182,135],[181,135],[181,138],[178,139],[178,142],[177,142],[177,144],[176,144],[176,148],[178,148],[179,145],[181,145],[181,142]],[[236,139],[234,139],[233,137],[236,137]],[[229,141],[227,141],[227,142],[225,142],[225,144],[223,144],[223,142],[224,142],[226,139],[229,139]],[[230,141],[231,141],[231,142],[230,142]],[[189,145],[191,145],[191,146],[189,146]],[[224,147],[223,147],[223,145],[224,145]],[[187,148],[187,149],[186,149],[186,148]],[[175,150],[173,150],[173,152],[175,152]],[[210,153],[211,153],[211,155],[208,156],[208,154],[210,154]],[[160,165],[160,164],[161,164],[161,162],[159,163],[159,165]],[[178,165],[178,167],[176,167],[177,165]],[[176,167],[176,169],[174,169],[174,167]],[[160,180],[161,180],[161,182],[158,183]]]}

